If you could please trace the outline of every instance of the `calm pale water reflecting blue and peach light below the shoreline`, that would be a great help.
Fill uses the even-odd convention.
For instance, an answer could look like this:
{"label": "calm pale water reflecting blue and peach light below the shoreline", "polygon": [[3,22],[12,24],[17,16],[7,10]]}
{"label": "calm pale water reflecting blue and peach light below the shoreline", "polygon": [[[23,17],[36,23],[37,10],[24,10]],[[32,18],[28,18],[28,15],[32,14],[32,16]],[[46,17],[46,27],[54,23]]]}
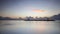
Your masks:
{"label": "calm pale water reflecting blue and peach light below the shoreline", "polygon": [[0,34],[60,34],[60,21],[0,21]]}

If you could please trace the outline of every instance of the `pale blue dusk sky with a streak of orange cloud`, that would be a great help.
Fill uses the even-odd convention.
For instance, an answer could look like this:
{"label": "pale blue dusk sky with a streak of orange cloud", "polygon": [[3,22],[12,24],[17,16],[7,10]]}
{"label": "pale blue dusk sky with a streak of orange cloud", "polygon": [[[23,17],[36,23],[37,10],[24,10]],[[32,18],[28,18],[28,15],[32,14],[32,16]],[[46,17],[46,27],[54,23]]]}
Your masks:
{"label": "pale blue dusk sky with a streak of orange cloud", "polygon": [[51,17],[60,14],[60,0],[1,0],[0,16]]}

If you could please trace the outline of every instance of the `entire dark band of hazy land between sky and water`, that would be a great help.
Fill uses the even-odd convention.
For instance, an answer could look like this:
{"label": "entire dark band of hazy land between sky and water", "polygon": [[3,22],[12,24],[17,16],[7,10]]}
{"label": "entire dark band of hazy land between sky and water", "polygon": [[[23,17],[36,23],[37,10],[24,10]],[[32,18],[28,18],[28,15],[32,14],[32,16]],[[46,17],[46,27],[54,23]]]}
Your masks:
{"label": "entire dark band of hazy land between sky and water", "polygon": [[60,14],[58,15],[54,15],[52,17],[36,17],[36,18],[33,18],[33,17],[25,17],[25,18],[10,18],[10,17],[2,17],[0,16],[0,20],[25,20],[25,21],[54,21],[54,20],[60,20]]}

